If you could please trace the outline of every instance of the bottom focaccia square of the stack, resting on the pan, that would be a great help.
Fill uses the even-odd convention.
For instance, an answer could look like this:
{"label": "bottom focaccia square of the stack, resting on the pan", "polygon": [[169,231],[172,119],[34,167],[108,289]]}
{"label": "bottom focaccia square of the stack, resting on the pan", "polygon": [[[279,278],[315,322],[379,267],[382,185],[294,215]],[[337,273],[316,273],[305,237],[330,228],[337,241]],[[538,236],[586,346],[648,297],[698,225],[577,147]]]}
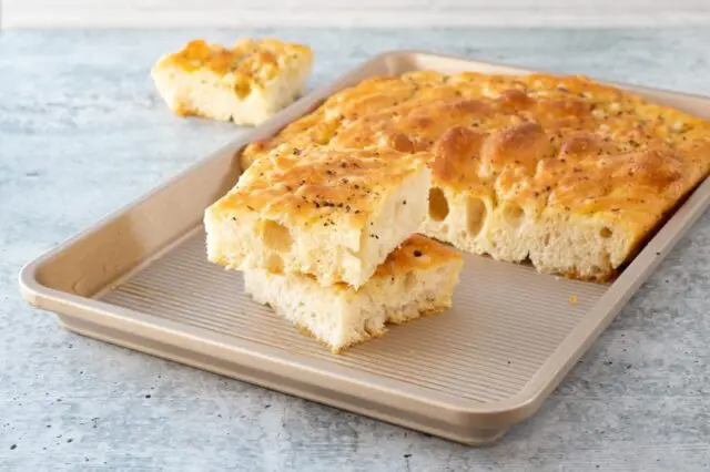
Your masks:
{"label": "bottom focaccia square of the stack, resting on the pan", "polygon": [[359,290],[344,284],[322,287],[310,276],[263,269],[244,273],[244,289],[337,353],[384,335],[386,324],[449,308],[462,267],[456,249],[413,235]]}

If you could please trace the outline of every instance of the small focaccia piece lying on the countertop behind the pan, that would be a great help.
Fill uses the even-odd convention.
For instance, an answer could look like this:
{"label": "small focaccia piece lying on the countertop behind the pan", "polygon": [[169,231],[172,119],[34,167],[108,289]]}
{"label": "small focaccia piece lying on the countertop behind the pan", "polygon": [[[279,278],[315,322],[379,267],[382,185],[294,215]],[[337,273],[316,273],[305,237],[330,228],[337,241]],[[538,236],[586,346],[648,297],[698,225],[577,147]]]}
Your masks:
{"label": "small focaccia piece lying on the countertop behind the pan", "polygon": [[160,58],[151,76],[179,115],[256,125],[303,93],[312,65],[310,48],[275,39],[194,40]]}

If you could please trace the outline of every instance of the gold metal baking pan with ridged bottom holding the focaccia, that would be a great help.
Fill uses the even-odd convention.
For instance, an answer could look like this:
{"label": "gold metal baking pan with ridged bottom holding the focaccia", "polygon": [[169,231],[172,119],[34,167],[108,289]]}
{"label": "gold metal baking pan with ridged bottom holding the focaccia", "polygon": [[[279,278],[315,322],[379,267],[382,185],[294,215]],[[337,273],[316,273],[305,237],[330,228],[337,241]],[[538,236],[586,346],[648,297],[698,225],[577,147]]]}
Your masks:
{"label": "gold metal baking pan with ridged bottom holding the focaccia", "polygon": [[[702,214],[710,178],[611,285],[466,256],[455,308],[334,356],[245,296],[240,274],[205,260],[203,211],[236,182],[245,143],[367,76],[417,69],[527,72],[412,51],[379,55],[28,264],[24,297],[92,338],[464,443],[500,438],[540,407]],[[632,89],[710,117],[710,99]]]}

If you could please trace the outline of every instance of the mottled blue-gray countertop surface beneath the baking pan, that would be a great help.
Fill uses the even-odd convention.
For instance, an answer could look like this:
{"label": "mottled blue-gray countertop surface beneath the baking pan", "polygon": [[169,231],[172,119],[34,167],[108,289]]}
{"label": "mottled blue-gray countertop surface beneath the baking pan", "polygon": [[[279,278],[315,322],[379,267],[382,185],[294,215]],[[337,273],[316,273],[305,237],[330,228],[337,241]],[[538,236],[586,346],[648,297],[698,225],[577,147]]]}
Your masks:
{"label": "mottled blue-gray countertop surface beneath the baking pan", "polygon": [[172,116],[148,79],[186,39],[312,44],[312,85],[422,48],[710,94],[710,31],[0,33],[0,470],[710,470],[710,215],[541,410],[471,449],[60,329],[22,264],[240,132]]}

